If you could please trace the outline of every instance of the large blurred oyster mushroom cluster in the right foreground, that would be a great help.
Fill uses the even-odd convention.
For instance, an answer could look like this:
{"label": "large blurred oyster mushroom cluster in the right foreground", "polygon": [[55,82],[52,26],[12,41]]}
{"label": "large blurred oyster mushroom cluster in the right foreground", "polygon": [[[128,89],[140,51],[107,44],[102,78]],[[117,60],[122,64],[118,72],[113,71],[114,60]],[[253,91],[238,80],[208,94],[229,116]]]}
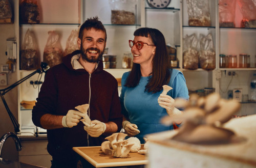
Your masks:
{"label": "large blurred oyster mushroom cluster in the right foreground", "polygon": [[162,123],[170,125],[177,120],[183,123],[172,139],[193,144],[222,144],[229,143],[234,132],[222,127],[232,118],[241,104],[236,100],[222,99],[218,93],[199,97],[190,96],[189,101],[176,99],[177,108],[185,108],[182,115],[162,119]]}

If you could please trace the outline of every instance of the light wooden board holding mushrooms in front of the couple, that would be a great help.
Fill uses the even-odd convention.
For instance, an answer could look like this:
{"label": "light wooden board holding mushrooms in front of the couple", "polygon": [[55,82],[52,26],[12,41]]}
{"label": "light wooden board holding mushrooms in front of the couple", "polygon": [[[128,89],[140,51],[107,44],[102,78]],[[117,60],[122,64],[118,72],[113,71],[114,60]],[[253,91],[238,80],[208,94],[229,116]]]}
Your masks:
{"label": "light wooden board holding mushrooms in front of the couple", "polygon": [[127,158],[116,158],[105,155],[100,147],[74,147],[73,150],[95,167],[142,165],[148,162],[145,155],[137,152],[130,152]]}

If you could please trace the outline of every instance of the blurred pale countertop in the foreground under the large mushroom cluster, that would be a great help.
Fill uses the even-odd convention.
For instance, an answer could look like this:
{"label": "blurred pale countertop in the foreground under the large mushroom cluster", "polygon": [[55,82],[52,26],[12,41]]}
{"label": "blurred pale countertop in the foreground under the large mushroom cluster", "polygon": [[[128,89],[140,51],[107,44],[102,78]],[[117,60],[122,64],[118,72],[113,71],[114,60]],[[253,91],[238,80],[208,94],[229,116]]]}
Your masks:
{"label": "blurred pale countertop in the foreground under the large mushroom cluster", "polygon": [[164,131],[147,135],[149,141],[169,148],[206,154],[256,166],[256,115],[234,118],[224,124],[236,133],[235,139],[229,144],[194,145],[170,139],[177,131]]}

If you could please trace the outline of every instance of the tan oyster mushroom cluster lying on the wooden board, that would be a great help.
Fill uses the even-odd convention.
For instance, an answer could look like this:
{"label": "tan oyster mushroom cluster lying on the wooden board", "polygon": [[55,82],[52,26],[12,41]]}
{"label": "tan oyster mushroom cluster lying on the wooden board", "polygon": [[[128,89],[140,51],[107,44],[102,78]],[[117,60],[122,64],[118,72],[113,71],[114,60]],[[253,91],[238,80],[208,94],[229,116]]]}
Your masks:
{"label": "tan oyster mushroom cluster lying on the wooden board", "polygon": [[[109,141],[104,141],[101,144],[101,151],[106,155],[113,155],[114,157],[127,157],[129,152],[138,152],[140,149],[140,141],[138,139],[126,139],[127,134],[119,132],[113,133],[106,137]],[[139,143],[139,144],[138,144]]]}

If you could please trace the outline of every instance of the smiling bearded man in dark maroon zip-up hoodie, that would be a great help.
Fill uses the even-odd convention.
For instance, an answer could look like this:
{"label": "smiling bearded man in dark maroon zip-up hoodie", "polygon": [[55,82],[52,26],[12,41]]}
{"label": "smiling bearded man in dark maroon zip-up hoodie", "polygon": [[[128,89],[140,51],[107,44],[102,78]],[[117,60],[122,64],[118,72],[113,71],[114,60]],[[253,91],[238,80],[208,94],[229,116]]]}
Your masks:
{"label": "smiling bearded man in dark maroon zip-up hoodie", "polygon": [[[117,80],[103,70],[106,30],[97,17],[80,27],[78,47],[47,72],[32,120],[47,129],[51,167],[76,167],[73,147],[100,146],[106,136],[120,131],[122,115]],[[76,106],[89,104],[93,127],[79,120],[85,115]]]}

